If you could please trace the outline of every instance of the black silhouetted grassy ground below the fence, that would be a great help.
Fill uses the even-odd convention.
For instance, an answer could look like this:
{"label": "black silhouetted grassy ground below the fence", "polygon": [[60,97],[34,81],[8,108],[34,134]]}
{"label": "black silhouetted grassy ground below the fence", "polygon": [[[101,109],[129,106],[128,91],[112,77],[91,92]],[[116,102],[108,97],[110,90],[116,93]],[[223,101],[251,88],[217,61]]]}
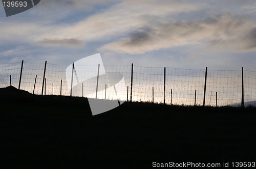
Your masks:
{"label": "black silhouetted grassy ground below the fence", "polygon": [[[11,94],[12,93],[12,94]],[[151,168],[256,160],[256,108],[124,103],[0,90],[1,168]]]}

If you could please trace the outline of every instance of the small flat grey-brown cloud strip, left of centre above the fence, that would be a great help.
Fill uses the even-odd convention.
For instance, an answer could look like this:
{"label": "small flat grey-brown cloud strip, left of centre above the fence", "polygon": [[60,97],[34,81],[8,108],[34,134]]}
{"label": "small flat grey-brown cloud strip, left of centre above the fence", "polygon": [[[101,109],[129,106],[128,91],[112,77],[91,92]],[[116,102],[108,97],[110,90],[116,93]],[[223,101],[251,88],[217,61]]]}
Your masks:
{"label": "small flat grey-brown cloud strip, left of centre above the fence", "polygon": [[49,46],[74,46],[81,47],[84,43],[78,39],[44,39],[39,41],[41,45],[49,45]]}

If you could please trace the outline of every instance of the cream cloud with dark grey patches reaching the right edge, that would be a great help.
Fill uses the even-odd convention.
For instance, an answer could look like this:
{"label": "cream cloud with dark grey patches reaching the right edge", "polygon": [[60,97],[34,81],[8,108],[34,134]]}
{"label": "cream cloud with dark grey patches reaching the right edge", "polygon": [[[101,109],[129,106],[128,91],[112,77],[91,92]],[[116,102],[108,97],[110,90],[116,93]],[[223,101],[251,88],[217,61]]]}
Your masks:
{"label": "cream cloud with dark grey patches reaching the right edge", "polygon": [[255,26],[253,22],[231,14],[203,21],[148,24],[126,38],[105,44],[99,50],[140,54],[187,44],[201,44],[215,50],[255,50]]}

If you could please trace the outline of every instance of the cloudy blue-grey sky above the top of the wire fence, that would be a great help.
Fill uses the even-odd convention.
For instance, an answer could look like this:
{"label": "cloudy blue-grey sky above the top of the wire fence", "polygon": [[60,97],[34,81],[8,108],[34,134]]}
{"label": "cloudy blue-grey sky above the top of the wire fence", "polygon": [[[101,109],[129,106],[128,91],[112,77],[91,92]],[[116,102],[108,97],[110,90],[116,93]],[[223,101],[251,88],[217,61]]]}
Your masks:
{"label": "cloudy blue-grey sky above the top of the wire fence", "polygon": [[6,17],[0,62],[256,70],[256,1],[41,0]]}

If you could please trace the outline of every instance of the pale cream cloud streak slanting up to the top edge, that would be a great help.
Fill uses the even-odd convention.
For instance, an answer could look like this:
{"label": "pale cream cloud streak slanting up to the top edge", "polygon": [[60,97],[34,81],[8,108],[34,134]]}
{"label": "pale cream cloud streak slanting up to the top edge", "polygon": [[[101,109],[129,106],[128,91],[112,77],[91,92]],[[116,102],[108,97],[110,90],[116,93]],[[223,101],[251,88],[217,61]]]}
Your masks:
{"label": "pale cream cloud streak slanting up to the top edge", "polygon": [[[169,8],[172,6],[172,8]],[[170,14],[189,12],[200,8],[198,4],[173,3],[169,1],[124,1],[109,9],[98,12],[75,24],[51,30],[40,38],[82,38],[88,41],[99,41],[113,36],[123,36],[138,27],[148,24],[152,18],[161,20]]]}

